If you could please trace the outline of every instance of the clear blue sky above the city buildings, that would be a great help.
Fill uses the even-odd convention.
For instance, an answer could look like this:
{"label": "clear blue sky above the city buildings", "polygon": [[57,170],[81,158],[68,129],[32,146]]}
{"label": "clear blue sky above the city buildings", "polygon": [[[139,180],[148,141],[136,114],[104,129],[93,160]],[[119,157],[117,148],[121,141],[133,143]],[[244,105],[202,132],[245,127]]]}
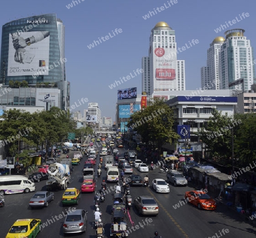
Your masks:
{"label": "clear blue sky above the city buildings", "polygon": [[[56,13],[65,25],[65,58],[67,80],[71,82],[71,105],[82,97],[88,98],[89,102],[99,104],[102,116],[114,117],[118,88],[138,87],[138,93],[141,93],[141,75],[112,90],[109,85],[133,73],[133,70],[141,69],[141,58],[148,56],[150,31],[158,22],[167,22],[175,30],[177,47],[181,48],[193,39],[199,40],[199,44],[177,56],[178,59],[185,59],[187,90],[200,88],[200,68],[207,64],[209,44],[215,37],[224,36],[227,29],[245,29],[245,36],[256,47],[254,0],[177,0],[171,7],[168,7],[170,0],[77,2],[78,5],[68,9],[66,6],[72,0],[3,1],[1,25],[27,16]],[[143,19],[142,16],[148,11],[164,6],[164,3],[168,8],[164,7],[163,11],[147,20]],[[243,12],[248,12],[249,17],[241,20]],[[240,22],[221,32],[214,31],[221,24],[232,23],[236,18]],[[87,47],[98,37],[112,33],[115,28],[121,28],[122,33],[92,49]],[[86,108],[88,104],[77,108],[77,111]]]}

